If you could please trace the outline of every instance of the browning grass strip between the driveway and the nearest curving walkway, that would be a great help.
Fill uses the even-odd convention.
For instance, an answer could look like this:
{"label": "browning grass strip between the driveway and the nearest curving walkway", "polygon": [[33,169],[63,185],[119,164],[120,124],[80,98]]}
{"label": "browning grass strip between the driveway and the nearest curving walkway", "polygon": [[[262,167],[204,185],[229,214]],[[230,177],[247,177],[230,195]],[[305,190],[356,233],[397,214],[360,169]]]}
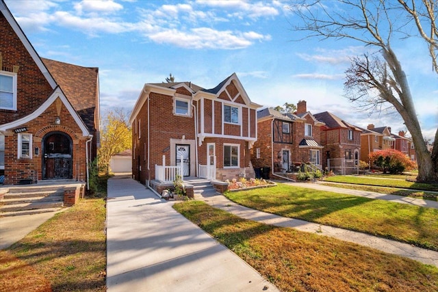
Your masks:
{"label": "browning grass strip between the driveway and the nearest curving walkway", "polygon": [[[241,193],[247,194],[233,194]],[[244,220],[204,202],[174,207],[281,291],[438,291],[437,267],[331,237]]]}

